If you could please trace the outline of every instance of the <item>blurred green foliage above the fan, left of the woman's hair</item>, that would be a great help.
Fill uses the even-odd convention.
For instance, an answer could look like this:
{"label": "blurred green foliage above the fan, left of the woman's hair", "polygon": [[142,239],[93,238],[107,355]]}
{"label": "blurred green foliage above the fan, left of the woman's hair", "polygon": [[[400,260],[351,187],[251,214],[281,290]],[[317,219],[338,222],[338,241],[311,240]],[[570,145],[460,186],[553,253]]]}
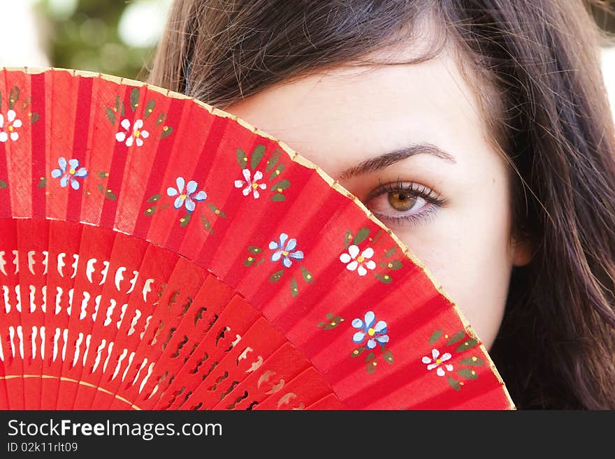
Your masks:
{"label": "blurred green foliage above the fan, left of the woman's hair", "polygon": [[[47,22],[45,39],[52,66],[138,78],[154,48],[138,48],[120,39],[124,0],[74,0],[71,15],[57,14],[52,0],[39,0],[36,11]],[[161,12],[163,14],[164,12]]]}

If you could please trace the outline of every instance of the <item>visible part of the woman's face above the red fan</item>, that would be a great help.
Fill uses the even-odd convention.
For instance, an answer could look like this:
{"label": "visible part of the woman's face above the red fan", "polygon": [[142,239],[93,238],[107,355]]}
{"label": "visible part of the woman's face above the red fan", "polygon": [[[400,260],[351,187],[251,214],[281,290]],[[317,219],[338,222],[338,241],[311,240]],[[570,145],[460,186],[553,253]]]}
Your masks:
{"label": "visible part of the woman's face above the red fan", "polygon": [[451,54],[368,69],[314,71],[224,110],[359,198],[433,273],[489,349],[512,265],[527,261],[526,248],[511,240],[507,165]]}

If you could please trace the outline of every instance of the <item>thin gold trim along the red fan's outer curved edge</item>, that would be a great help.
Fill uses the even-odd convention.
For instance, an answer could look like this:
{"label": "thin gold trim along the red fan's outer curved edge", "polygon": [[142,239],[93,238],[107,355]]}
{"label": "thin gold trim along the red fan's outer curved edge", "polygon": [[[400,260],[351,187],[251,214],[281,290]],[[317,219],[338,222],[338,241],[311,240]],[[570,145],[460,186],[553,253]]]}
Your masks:
{"label": "thin gold trim along the red fan's outer curved edge", "polygon": [[258,136],[261,136],[261,137],[273,140],[278,145],[280,145],[280,147],[282,147],[282,150],[284,150],[284,152],[286,152],[289,155],[291,161],[299,163],[299,164],[301,164],[301,166],[305,166],[307,168],[316,170],[316,172],[323,178],[323,180],[325,182],[327,182],[329,184],[329,186],[331,188],[335,189],[335,191],[338,191],[340,194],[346,196],[347,198],[352,199],[352,201],[354,201],[354,203],[356,205],[358,205],[359,208],[361,208],[361,210],[363,210],[363,212],[365,212],[365,214],[368,217],[368,219],[370,219],[375,224],[377,224],[382,229],[384,229],[384,231],[386,231],[386,233],[389,233],[389,235],[391,236],[393,241],[395,241],[396,244],[402,250],[402,252],[408,258],[410,258],[412,263],[414,263],[419,268],[421,268],[421,270],[423,270],[425,275],[432,282],[433,286],[435,286],[435,289],[437,289],[437,291],[439,291],[442,294],[442,296],[444,296],[444,298],[449,300],[449,303],[451,303],[454,311],[459,316],[459,319],[461,319],[461,323],[463,323],[463,326],[464,326],[465,330],[468,332],[468,335],[470,335],[470,337],[475,338],[480,343],[479,347],[480,347],[480,349],[482,349],[482,351],[484,351],[484,353],[485,353],[485,355],[486,355],[486,357],[487,357],[487,359],[489,361],[489,367],[493,371],[493,374],[495,374],[495,377],[498,379],[498,381],[500,383],[500,386],[502,386],[502,389],[505,392],[506,398],[508,399],[508,402],[509,402],[509,409],[516,409],[516,406],[514,405],[514,402],[512,401],[512,398],[510,397],[508,389],[507,389],[507,387],[505,385],[505,382],[502,380],[502,377],[500,376],[500,373],[498,372],[498,369],[495,367],[495,364],[493,363],[493,360],[491,360],[491,356],[489,356],[489,351],[487,351],[487,349],[484,347],[484,344],[479,339],[477,333],[474,331],[474,329],[470,325],[470,322],[468,321],[468,319],[466,319],[465,316],[463,315],[463,313],[461,312],[461,309],[458,308],[458,306],[452,300],[452,298],[444,291],[444,288],[437,282],[437,280],[435,279],[435,277],[433,276],[431,271],[423,263],[421,263],[421,261],[419,261],[419,258],[414,256],[414,254],[410,250],[410,247],[408,247],[405,244],[405,242],[400,240],[398,238],[398,236],[395,233],[393,233],[393,231],[390,228],[388,228],[385,224],[383,224],[382,221],[379,221],[379,219],[377,219],[374,216],[374,214],[372,214],[372,212],[370,212],[370,210],[359,200],[359,198],[357,198],[356,196],[354,196],[354,194],[352,194],[350,191],[345,189],[345,187],[342,187],[342,185],[337,180],[333,179],[333,177],[328,175],[324,170],[319,168],[316,164],[312,163],[312,161],[310,161],[307,158],[304,158],[303,156],[301,156],[301,154],[299,154],[298,152],[293,150],[291,147],[289,147],[289,145],[287,145],[286,143],[282,142],[282,140],[278,140],[277,138],[275,138],[273,136],[270,136],[270,134],[268,134],[268,133],[266,133],[264,131],[261,131],[259,128],[257,128],[256,126],[253,126],[252,124],[249,124],[247,121],[245,121],[244,119],[241,119],[240,117],[236,117],[235,115],[231,115],[231,113],[229,113],[229,112],[225,112],[224,110],[220,110],[219,108],[215,108],[214,106],[209,105],[208,103],[205,103],[203,101],[199,101],[198,99],[195,99],[194,97],[189,97],[189,96],[186,96],[186,95],[181,94],[179,92],[171,91],[170,89],[164,89],[163,87],[159,87],[159,86],[155,86],[155,85],[150,85],[149,83],[146,83],[146,82],[143,82],[143,81],[139,81],[139,80],[131,80],[130,78],[117,77],[115,75],[109,75],[107,73],[99,73],[99,72],[92,72],[92,71],[85,71],[85,70],[75,70],[73,68],[59,68],[59,67],[0,67],[0,70],[3,70],[3,71],[5,71],[5,70],[6,71],[21,71],[21,72],[24,72],[24,73],[29,73],[31,75],[35,75],[35,74],[38,74],[38,73],[43,73],[45,71],[66,71],[66,72],[70,73],[73,76],[77,76],[78,75],[78,76],[83,76],[83,77],[86,77],[86,78],[102,78],[103,80],[112,81],[112,82],[115,82],[115,83],[117,83],[119,85],[131,85],[131,86],[136,86],[136,87],[147,87],[148,90],[159,92],[160,94],[163,94],[164,96],[171,97],[173,99],[187,99],[187,100],[191,100],[194,103],[196,103],[197,105],[200,105],[201,107],[205,108],[205,110],[210,112],[212,115],[217,115],[219,117],[233,119],[233,121],[238,122],[238,124],[240,124],[241,126],[245,127],[246,129],[248,129],[252,133],[255,133]]}

